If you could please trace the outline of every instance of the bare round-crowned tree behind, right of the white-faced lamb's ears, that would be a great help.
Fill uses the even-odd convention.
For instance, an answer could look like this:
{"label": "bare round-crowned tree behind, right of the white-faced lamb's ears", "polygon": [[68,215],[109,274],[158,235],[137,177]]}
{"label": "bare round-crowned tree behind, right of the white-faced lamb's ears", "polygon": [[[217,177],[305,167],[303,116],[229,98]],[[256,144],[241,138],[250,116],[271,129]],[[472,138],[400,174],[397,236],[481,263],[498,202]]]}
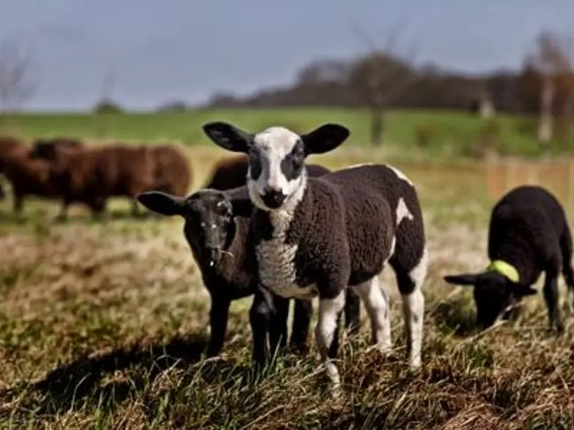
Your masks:
{"label": "bare round-crowned tree behind, right of the white-faced lamb's ears", "polygon": [[[361,30],[355,31],[368,47],[368,54],[358,59],[350,73],[349,85],[359,104],[370,112],[370,142],[382,145],[385,134],[385,111],[416,81],[411,61],[397,53],[399,31],[389,32],[382,46],[373,44]],[[412,51],[412,49],[411,49]],[[412,59],[411,52],[408,59]]]}

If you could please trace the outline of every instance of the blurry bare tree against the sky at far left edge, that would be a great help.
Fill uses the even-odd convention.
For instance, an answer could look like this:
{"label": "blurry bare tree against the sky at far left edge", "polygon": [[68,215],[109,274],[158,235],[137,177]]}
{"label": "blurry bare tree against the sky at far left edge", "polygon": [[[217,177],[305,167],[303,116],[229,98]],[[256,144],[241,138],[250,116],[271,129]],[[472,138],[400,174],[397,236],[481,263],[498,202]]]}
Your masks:
{"label": "blurry bare tree against the sky at far left edge", "polygon": [[30,59],[16,38],[0,40],[0,107],[4,112],[16,110],[35,90],[30,77]]}

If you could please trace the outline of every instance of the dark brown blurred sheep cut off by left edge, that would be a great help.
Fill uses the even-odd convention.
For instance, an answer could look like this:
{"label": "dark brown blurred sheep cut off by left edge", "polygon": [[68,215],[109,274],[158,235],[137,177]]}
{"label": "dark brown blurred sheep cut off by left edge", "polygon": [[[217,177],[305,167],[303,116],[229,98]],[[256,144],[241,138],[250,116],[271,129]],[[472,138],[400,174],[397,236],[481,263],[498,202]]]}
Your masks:
{"label": "dark brown blurred sheep cut off by left edge", "polygon": [[30,148],[16,138],[0,138],[0,173],[12,186],[13,211],[20,215],[26,196],[56,198],[49,162],[30,158]]}

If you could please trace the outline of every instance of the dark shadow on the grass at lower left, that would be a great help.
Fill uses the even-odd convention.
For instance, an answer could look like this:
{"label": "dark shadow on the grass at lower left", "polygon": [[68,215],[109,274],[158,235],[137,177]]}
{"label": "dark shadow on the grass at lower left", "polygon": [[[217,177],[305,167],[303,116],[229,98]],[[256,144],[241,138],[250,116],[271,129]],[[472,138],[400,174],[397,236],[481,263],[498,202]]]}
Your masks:
{"label": "dark shadow on the grass at lower left", "polygon": [[[81,357],[59,366],[41,381],[18,384],[0,392],[0,404],[14,405],[0,410],[0,416],[32,410],[35,414],[51,415],[86,406],[113,410],[130,396],[145,392],[163,371],[186,369],[199,362],[206,345],[204,335],[193,335],[176,337],[160,345],[136,344],[98,357]],[[125,371],[129,376],[102,383],[105,378],[114,379],[117,371]],[[189,376],[199,375],[211,382],[224,375],[245,375],[249,371],[250,368],[216,360],[199,366],[197,372]]]}

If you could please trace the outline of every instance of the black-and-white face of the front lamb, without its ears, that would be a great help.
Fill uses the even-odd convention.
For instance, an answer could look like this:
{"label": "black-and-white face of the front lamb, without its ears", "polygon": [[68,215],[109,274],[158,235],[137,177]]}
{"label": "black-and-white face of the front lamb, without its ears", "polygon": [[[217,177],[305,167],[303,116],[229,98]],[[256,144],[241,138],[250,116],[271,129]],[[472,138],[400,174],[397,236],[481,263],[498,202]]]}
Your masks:
{"label": "black-and-white face of the front lamb, without its ears", "polygon": [[271,127],[253,137],[247,187],[262,210],[281,210],[303,194],[307,181],[305,145],[297,133]]}

